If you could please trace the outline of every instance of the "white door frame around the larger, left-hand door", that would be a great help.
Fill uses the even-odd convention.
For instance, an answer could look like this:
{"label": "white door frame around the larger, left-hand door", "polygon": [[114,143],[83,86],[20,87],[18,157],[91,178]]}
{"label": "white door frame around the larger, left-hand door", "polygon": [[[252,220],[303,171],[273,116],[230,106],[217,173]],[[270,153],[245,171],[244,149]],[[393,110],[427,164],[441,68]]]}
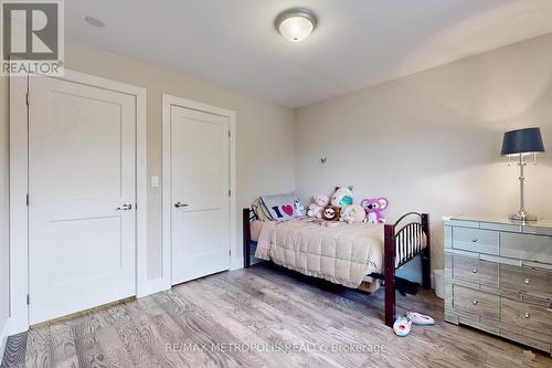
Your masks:
{"label": "white door frame around the larger, left-hand door", "polygon": [[[29,76],[36,77],[36,76]],[[10,77],[10,335],[29,329],[29,77]],[[40,76],[52,77],[52,76]],[[57,80],[136,97],[136,295],[151,290],[147,280],[147,115],[146,90],[65,70]],[[31,96],[32,98],[32,96]],[[30,101],[32,104],[32,101]],[[32,295],[31,295],[32,297]]]}

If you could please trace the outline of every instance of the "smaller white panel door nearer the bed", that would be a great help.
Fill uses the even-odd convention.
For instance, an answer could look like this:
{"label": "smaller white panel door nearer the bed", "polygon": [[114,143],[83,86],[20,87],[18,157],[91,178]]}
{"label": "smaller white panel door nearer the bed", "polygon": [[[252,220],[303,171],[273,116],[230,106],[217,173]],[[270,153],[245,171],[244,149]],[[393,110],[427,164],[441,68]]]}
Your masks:
{"label": "smaller white panel door nearer the bed", "polygon": [[229,118],[170,109],[172,284],[230,269]]}

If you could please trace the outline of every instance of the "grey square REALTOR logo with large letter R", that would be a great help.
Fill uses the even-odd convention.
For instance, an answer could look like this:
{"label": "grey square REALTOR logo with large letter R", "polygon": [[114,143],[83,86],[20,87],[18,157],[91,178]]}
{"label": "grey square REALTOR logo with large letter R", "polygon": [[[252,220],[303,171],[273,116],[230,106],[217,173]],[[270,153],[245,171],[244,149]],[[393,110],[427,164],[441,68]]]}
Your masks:
{"label": "grey square REALTOR logo with large letter R", "polygon": [[1,2],[1,75],[63,74],[63,3]]}

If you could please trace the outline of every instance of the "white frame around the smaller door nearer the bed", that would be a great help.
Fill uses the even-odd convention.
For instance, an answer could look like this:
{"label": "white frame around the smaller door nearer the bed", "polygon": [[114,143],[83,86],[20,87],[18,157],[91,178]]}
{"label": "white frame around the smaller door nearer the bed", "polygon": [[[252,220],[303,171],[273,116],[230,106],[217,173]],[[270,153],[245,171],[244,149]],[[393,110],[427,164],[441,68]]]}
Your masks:
{"label": "white frame around the smaller door nearer the bed", "polygon": [[172,286],[171,229],[171,106],[190,108],[229,118],[230,122],[230,270],[242,266],[236,239],[236,113],[190,99],[162,94],[162,267],[167,287]]}

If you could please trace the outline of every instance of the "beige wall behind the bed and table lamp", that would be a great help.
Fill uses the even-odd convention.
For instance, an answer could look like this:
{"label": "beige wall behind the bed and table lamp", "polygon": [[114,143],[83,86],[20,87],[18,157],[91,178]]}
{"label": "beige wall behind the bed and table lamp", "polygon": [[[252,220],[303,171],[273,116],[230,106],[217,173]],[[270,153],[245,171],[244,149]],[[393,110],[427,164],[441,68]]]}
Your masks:
{"label": "beige wall behind the bed and table lamp", "polygon": [[[357,199],[388,197],[391,221],[428,211],[442,267],[444,214],[517,206],[502,133],[540,126],[552,151],[552,35],[299,108],[296,120],[300,194],[353,185]],[[527,187],[529,209],[552,217],[551,153],[528,166]]]}

